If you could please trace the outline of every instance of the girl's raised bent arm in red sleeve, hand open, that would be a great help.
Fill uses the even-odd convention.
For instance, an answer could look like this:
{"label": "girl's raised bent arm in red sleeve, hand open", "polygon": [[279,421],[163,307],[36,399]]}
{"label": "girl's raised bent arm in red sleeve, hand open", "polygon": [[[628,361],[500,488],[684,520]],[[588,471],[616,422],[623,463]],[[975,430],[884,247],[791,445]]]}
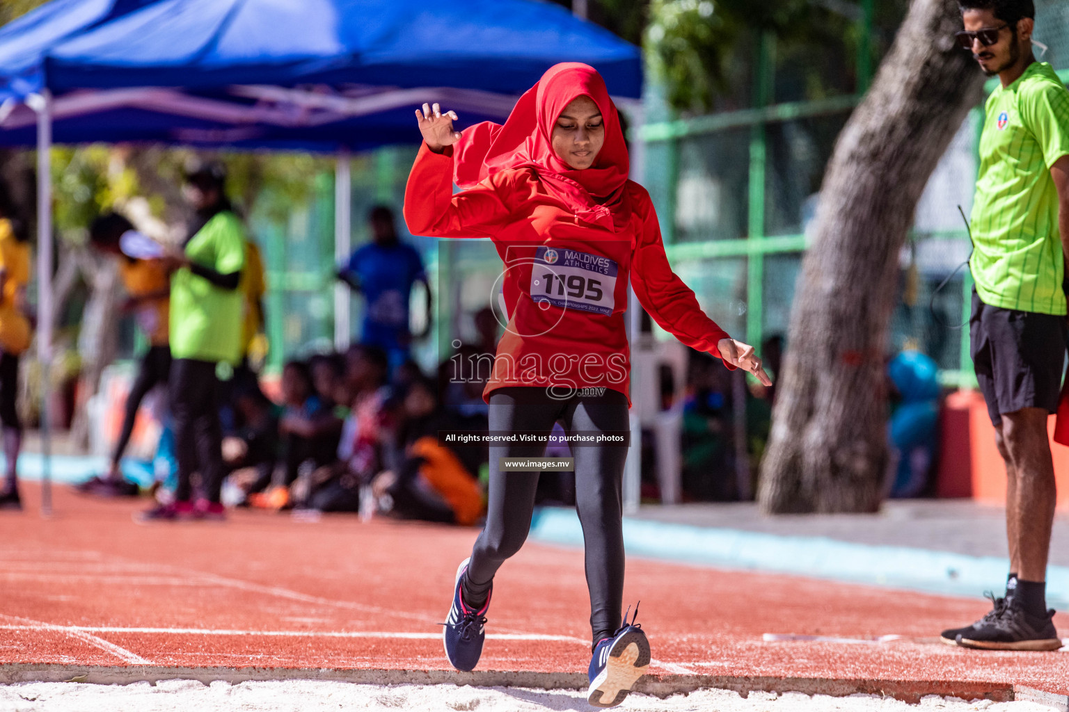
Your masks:
{"label": "girl's raised bent arm in red sleeve, hand open", "polygon": [[416,111],[423,145],[404,190],[404,220],[413,235],[490,237],[487,224],[509,215],[489,180],[453,194],[452,145],[461,136],[453,130],[455,117],[452,111],[443,114],[437,104]]}

